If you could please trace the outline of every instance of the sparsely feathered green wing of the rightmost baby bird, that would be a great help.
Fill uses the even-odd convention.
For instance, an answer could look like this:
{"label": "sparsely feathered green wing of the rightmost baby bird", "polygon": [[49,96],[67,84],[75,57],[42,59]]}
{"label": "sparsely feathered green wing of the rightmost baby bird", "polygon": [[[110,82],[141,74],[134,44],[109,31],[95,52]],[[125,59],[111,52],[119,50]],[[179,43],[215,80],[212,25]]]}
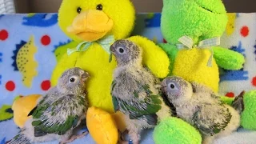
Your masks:
{"label": "sparsely feathered green wing of the rightmost baby bird", "polygon": [[[202,107],[206,108],[207,106]],[[192,121],[194,123],[194,126],[198,127],[198,130],[200,130],[203,134],[218,134],[221,130],[224,130],[229,124],[230,118],[232,116],[228,109],[222,108],[219,110],[218,114],[215,114],[210,118],[206,114],[207,110],[202,110],[202,107],[198,106],[198,111],[194,114]],[[210,106],[208,107],[209,109],[213,109]],[[219,117],[218,121],[216,121],[217,117]]]}

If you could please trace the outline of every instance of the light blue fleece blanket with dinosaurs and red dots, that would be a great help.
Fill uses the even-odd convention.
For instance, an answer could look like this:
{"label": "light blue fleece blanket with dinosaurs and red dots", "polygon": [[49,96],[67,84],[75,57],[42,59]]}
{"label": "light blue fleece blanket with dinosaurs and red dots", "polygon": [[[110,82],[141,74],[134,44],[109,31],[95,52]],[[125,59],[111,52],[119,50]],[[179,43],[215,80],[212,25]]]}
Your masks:
{"label": "light blue fleece blanket with dinosaurs and red dots", "polygon": [[[256,14],[229,14],[229,17],[222,46],[246,56],[244,69],[222,72],[220,92],[233,97],[242,90],[256,88]],[[54,50],[70,42],[59,29],[57,18],[57,14],[0,15],[0,144],[18,134],[10,110],[14,98],[45,94],[50,88],[50,75],[56,65]],[[160,18],[161,14],[138,14],[133,34],[164,42]],[[143,131],[142,143],[154,143],[152,131]],[[82,142],[94,143],[90,134],[74,143]],[[256,143],[256,132],[238,130],[214,143]]]}

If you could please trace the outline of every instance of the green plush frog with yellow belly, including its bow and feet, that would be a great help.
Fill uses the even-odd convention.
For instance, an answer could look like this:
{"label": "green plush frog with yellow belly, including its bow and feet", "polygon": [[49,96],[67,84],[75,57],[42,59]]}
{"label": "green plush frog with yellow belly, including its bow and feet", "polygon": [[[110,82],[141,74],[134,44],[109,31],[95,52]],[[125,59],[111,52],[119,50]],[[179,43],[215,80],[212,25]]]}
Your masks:
{"label": "green plush frog with yellow belly, including its bow and feet", "polygon": [[[161,29],[166,43],[160,46],[170,58],[170,75],[201,83],[218,92],[218,67],[240,70],[245,62],[242,54],[218,46],[227,23],[222,0],[163,0],[163,4]],[[251,113],[256,110],[256,93],[247,93],[244,99],[241,124],[246,129],[255,130],[253,119],[256,117]],[[234,98],[222,97],[222,101],[231,105]],[[177,124],[174,118],[160,122],[154,129],[154,142],[201,143],[200,134],[186,128],[189,124],[183,127]],[[182,130],[191,132],[184,133],[186,139],[177,137],[176,131]]]}

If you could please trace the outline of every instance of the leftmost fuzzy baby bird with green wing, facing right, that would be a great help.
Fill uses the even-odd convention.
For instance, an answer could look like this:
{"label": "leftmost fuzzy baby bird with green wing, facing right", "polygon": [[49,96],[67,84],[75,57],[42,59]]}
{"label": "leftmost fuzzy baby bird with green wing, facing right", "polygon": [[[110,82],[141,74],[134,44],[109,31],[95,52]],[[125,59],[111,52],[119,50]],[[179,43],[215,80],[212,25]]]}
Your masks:
{"label": "leftmost fuzzy baby bird with green wing, facing right", "polygon": [[29,114],[32,118],[9,143],[53,140],[66,143],[85,135],[74,136],[73,130],[85,118],[88,108],[85,92],[87,78],[89,74],[80,68],[66,70],[59,78],[58,85],[38,100],[38,105]]}

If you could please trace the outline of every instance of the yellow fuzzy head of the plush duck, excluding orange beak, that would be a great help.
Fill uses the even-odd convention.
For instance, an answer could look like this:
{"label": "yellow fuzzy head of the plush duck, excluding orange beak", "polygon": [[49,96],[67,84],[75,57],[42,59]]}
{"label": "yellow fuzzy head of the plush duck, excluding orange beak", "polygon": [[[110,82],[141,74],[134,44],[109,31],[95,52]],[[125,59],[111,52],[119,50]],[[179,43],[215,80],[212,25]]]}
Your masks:
{"label": "yellow fuzzy head of the plush duck, excluding orange beak", "polygon": [[[61,29],[75,42],[82,42],[75,34],[67,32],[67,27],[71,26],[74,18],[78,15],[77,9],[80,7],[83,11],[96,10],[97,6],[102,4],[102,11],[114,21],[113,30],[116,39],[126,38],[134,28],[135,11],[130,0],[64,0],[58,11],[58,24]],[[100,21],[100,19],[99,19]]]}

